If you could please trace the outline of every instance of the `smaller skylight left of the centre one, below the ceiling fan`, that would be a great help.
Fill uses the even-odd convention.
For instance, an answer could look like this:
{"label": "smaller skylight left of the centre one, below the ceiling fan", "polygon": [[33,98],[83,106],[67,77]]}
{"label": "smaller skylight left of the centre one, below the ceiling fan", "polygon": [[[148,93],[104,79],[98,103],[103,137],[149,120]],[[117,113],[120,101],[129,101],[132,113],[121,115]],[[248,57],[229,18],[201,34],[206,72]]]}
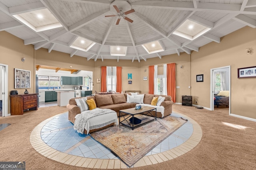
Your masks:
{"label": "smaller skylight left of the centre one, below the ceiling fan", "polygon": [[70,45],[70,47],[82,51],[88,51],[92,46],[94,46],[94,42],[84,39],[82,37],[77,37],[76,40]]}

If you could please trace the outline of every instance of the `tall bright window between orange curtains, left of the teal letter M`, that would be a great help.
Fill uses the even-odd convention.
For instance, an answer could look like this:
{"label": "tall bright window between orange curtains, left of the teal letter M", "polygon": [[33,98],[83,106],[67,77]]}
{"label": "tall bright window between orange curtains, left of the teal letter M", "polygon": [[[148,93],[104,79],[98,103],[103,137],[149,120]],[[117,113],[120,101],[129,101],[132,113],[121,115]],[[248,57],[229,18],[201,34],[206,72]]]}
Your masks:
{"label": "tall bright window between orange curtains, left of the teal letter M", "polygon": [[116,67],[107,66],[107,91],[116,92]]}

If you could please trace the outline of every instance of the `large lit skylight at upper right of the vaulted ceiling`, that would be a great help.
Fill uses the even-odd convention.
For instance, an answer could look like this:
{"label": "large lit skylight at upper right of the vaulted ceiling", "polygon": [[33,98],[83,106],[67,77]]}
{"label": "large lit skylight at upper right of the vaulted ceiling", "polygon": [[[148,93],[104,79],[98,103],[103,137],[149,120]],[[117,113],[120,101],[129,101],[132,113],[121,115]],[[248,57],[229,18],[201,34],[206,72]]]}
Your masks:
{"label": "large lit skylight at upper right of the vaulted ceiling", "polygon": [[210,29],[211,28],[196,23],[194,21],[186,20],[176,29],[176,31],[174,31],[173,34],[192,41],[209,31]]}

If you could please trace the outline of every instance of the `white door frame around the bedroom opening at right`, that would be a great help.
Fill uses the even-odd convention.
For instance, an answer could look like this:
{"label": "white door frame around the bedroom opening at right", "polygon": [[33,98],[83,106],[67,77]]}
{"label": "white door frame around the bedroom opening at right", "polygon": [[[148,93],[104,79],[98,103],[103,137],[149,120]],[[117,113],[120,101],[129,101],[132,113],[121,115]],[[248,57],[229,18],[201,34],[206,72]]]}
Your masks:
{"label": "white door frame around the bedroom opening at right", "polygon": [[212,68],[211,69],[211,75],[210,75],[210,110],[214,110],[214,94],[216,93],[215,86],[215,76],[214,72],[226,72],[226,90],[229,91],[229,115],[230,115],[230,108],[231,108],[231,95],[230,95],[230,82],[231,82],[231,74],[230,74],[230,66],[223,66],[218,68]]}

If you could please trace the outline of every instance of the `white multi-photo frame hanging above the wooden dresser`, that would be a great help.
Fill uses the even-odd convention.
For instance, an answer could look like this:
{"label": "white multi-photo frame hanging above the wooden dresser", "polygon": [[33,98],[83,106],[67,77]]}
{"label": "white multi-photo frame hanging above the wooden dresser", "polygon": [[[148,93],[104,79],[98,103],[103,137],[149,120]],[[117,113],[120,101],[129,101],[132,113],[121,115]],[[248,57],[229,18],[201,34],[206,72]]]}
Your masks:
{"label": "white multi-photo frame hanging above the wooden dresser", "polygon": [[14,68],[14,88],[30,88],[30,76],[29,70]]}

